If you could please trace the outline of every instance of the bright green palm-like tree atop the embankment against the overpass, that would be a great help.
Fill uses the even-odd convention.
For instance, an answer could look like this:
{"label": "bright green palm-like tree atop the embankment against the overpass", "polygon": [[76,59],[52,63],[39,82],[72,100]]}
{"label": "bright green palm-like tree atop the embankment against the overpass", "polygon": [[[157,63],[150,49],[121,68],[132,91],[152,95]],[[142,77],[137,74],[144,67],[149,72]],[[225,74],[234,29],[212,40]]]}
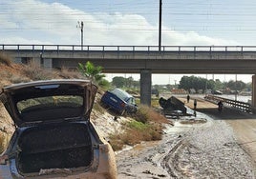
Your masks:
{"label": "bright green palm-like tree atop the embankment against the overpass", "polygon": [[105,74],[102,74],[102,67],[100,66],[95,66],[93,63],[90,61],[87,61],[85,65],[78,63],[78,68],[77,68],[82,75],[85,77],[89,78],[92,80],[94,83],[97,85],[100,84],[100,82],[103,80],[105,77]]}

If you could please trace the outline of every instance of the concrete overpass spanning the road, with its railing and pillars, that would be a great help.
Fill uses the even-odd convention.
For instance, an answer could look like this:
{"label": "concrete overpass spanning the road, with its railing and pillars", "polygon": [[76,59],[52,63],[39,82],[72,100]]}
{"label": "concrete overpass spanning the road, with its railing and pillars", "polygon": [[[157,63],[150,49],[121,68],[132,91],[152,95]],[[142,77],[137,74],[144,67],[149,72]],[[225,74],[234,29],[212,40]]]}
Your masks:
{"label": "concrete overpass spanning the road, with its railing and pillars", "polygon": [[[256,74],[256,46],[0,45],[17,63],[76,69],[91,61],[105,73],[140,73],[141,103],[150,105],[152,73]],[[252,104],[256,106],[256,78]],[[255,92],[254,92],[255,91]]]}

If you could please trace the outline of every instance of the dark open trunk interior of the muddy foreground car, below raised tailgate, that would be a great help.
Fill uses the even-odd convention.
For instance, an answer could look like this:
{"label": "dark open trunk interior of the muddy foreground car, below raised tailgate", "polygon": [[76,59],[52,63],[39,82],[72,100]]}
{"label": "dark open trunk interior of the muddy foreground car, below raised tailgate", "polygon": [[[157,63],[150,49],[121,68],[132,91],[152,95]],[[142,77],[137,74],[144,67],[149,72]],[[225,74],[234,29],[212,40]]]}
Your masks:
{"label": "dark open trunk interior of the muddy foreground car, below raised tailgate", "polygon": [[18,139],[17,169],[21,173],[40,169],[90,167],[92,141],[85,123],[61,123],[26,129]]}

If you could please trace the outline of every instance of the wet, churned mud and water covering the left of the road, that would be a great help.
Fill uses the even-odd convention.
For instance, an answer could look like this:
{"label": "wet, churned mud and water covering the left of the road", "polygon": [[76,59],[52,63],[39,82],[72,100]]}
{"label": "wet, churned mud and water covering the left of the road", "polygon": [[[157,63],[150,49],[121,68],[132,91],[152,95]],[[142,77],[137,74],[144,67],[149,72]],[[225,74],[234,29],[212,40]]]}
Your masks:
{"label": "wet, churned mud and water covering the left of the road", "polygon": [[[182,120],[206,123],[182,125]],[[161,141],[117,154],[117,178],[255,178],[249,156],[222,121],[197,113],[175,120]]]}

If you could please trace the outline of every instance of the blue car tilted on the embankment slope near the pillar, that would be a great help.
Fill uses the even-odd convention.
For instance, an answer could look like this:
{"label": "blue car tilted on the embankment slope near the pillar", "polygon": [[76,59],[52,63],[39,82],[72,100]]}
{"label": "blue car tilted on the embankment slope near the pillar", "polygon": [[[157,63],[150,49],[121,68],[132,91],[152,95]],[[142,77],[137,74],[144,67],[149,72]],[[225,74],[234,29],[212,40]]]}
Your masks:
{"label": "blue car tilted on the embankment slope near the pillar", "polygon": [[101,104],[119,114],[136,113],[138,106],[135,97],[122,89],[107,90],[101,97]]}

